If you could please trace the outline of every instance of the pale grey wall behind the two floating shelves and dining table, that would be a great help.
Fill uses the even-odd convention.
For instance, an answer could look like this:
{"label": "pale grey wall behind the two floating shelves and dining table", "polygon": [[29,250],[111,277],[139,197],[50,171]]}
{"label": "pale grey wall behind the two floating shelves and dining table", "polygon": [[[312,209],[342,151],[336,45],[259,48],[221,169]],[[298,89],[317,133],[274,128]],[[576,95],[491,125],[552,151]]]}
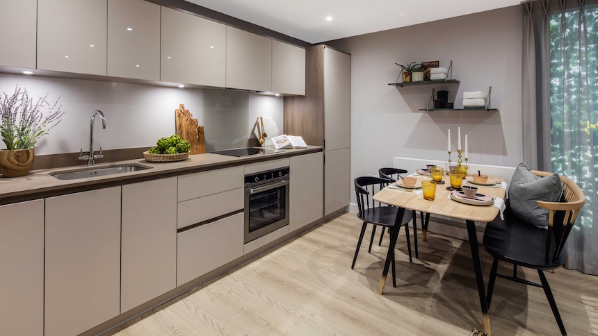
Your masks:
{"label": "pale grey wall behind the two floating shelves and dining table", "polygon": [[[328,42],[351,54],[352,179],[378,174],[395,156],[446,160],[448,128],[454,162],[458,126],[469,135],[469,162],[521,162],[521,27],[521,8],[513,6]],[[492,85],[492,108],[500,111],[419,111],[434,86],[387,85],[400,72],[395,62],[433,60],[442,67],[453,60],[453,78],[461,83],[436,89],[448,89],[455,108],[462,108],[462,92]]]}

